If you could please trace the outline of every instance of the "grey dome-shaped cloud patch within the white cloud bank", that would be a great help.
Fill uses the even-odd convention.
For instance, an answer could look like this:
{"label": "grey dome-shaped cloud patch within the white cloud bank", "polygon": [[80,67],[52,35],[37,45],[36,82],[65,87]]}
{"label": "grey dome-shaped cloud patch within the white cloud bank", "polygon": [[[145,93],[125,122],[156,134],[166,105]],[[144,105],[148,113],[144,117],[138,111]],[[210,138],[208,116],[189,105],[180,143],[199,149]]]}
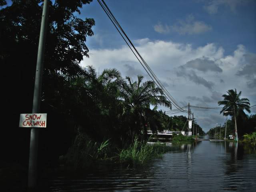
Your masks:
{"label": "grey dome-shaped cloud patch within the white cloud bank", "polygon": [[197,69],[202,72],[222,72],[222,69],[214,61],[209,60],[208,58],[197,58],[190,60],[184,65],[184,67]]}

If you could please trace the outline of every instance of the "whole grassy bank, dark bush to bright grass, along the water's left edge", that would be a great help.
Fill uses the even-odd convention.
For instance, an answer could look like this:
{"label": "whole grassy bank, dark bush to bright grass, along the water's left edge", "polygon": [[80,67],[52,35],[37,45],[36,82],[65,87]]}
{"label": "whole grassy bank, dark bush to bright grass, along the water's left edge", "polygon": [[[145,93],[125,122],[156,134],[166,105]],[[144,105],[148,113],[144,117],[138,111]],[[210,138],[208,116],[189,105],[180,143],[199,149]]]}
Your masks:
{"label": "whole grassy bank, dark bush to bright grass, along the water's left edge", "polygon": [[[85,170],[96,162],[114,162],[133,166],[143,165],[152,158],[162,157],[171,150],[166,143],[149,142],[135,137],[133,142],[124,147],[117,148],[111,143],[111,139],[103,142],[95,142],[86,134],[78,134],[73,145],[65,155],[60,156],[60,168],[67,170]],[[194,142],[192,136],[185,137],[182,134],[175,135],[172,144],[188,144]]]}

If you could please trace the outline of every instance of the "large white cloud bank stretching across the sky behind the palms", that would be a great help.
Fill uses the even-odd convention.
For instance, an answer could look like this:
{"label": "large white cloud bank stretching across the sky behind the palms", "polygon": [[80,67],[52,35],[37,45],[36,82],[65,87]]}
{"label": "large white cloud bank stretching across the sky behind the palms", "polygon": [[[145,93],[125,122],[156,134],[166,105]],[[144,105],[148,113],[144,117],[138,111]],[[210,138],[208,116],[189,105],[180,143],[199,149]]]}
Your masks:
{"label": "large white cloud bank stretching across the sky behind the palms", "polygon": [[[252,56],[253,54],[248,53],[244,46],[238,45],[233,54],[224,56],[224,49],[213,43],[196,48],[193,48],[191,44],[152,41],[150,39],[137,40],[137,43],[137,50],[160,81],[169,85],[166,86],[166,89],[180,105],[187,105],[189,98],[192,105],[218,106],[217,102],[222,99],[222,94],[234,88],[242,91],[242,98],[249,98],[251,104],[256,103],[256,90],[250,88],[252,85],[248,84],[247,76],[237,75],[238,71],[248,72],[249,61],[254,60],[252,57],[248,57],[248,55]],[[220,69],[217,71],[195,70],[190,66],[189,70],[182,73],[181,66],[198,58],[214,61],[214,64],[222,72]],[[118,49],[90,49],[90,58],[84,58],[81,64],[82,66],[92,65],[96,69],[100,68],[100,71],[104,68],[117,68],[122,76],[129,75],[132,78],[136,78],[138,74],[143,74],[145,80],[150,80],[128,46],[122,46]],[[206,63],[206,67],[208,64]],[[204,62],[200,63],[200,67],[203,66]],[[193,72],[188,75],[190,70]],[[182,75],[177,76],[177,72]],[[161,108],[164,109],[159,107],[159,109]],[[205,131],[214,126],[206,122],[207,117],[218,117],[219,121],[223,119],[223,122],[225,119],[219,114],[219,110],[192,110],[198,123]]]}

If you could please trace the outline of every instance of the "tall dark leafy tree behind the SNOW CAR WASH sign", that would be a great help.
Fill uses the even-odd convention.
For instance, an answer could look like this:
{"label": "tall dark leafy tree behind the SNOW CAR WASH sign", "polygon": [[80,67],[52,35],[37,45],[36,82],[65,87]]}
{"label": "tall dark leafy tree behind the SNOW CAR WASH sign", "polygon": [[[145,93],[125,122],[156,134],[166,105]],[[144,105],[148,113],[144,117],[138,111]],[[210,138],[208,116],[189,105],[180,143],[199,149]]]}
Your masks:
{"label": "tall dark leafy tree behind the SNOW CAR WASH sign", "polygon": [[[2,135],[12,134],[13,142],[6,152],[5,158],[15,159],[21,156],[23,162],[28,162],[26,151],[28,130],[18,128],[19,114],[32,111],[34,76],[36,57],[42,18],[43,0],[12,0],[0,1],[0,63],[1,76],[8,79],[4,83],[4,99],[6,108],[6,122],[10,129],[2,131]],[[88,57],[86,39],[93,35],[92,18],[78,18],[80,8],[92,0],[55,0],[49,2],[49,18],[46,34],[46,50],[44,56],[44,72],[42,85],[42,112],[48,113],[46,134],[56,140],[64,139],[64,132],[69,128],[66,118],[61,121],[51,121],[56,115],[56,109],[62,105],[62,93],[66,89],[62,74],[74,75],[80,73],[79,63],[84,56]],[[11,78],[10,78],[11,74]],[[51,106],[50,106],[51,105]],[[50,106],[48,108],[48,106]],[[60,112],[61,113],[61,112]],[[58,113],[58,114],[60,114]],[[58,115],[59,116],[59,115]],[[53,129],[54,128],[54,129]],[[40,130],[41,131],[41,130]],[[40,134],[43,136],[43,134]],[[54,138],[55,137],[55,138]],[[1,146],[8,142],[4,137]],[[49,145],[56,146],[52,142]],[[61,143],[59,141],[59,143]],[[52,149],[49,147],[49,149]],[[17,151],[18,154],[12,153]],[[56,150],[60,152],[60,150]],[[19,154],[20,153],[20,154]],[[46,157],[46,156],[44,156]]]}

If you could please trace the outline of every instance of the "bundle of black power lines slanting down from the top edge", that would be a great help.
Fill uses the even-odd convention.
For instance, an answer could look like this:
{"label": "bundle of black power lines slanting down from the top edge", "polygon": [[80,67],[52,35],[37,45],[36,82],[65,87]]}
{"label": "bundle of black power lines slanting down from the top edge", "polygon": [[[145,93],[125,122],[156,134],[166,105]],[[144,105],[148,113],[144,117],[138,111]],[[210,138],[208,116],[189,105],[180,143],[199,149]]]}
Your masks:
{"label": "bundle of black power lines slanting down from the top edge", "polygon": [[[154,83],[156,84],[156,86],[158,86],[159,88],[162,88],[162,91],[164,93],[164,95],[166,96],[166,98],[180,111],[184,112],[184,110],[181,110],[178,102],[176,102],[176,100],[174,100],[174,98],[171,96],[171,94],[168,92],[168,90],[166,90],[166,88],[163,86],[163,84],[160,82],[160,80],[157,78],[157,76],[154,74],[154,72],[151,70],[151,68],[148,66],[148,64],[146,63],[146,61],[142,58],[142,56],[140,55],[140,53],[138,52],[138,50],[135,48],[135,46],[133,45],[133,43],[131,42],[131,40],[128,38],[128,36],[126,35],[126,33],[124,32],[124,30],[122,29],[122,27],[120,26],[120,24],[118,23],[118,21],[116,20],[116,18],[114,17],[114,15],[112,14],[112,12],[110,11],[110,9],[108,8],[108,6],[106,5],[106,3],[104,2],[104,0],[101,0],[102,2],[100,2],[100,0],[98,0],[98,3],[100,4],[100,6],[102,7],[102,9],[104,10],[104,12],[107,14],[108,18],[111,20],[111,22],[114,24],[116,30],[118,30],[118,28],[122,31],[122,33],[124,34],[124,36],[126,37],[126,39],[128,40],[128,42],[130,42],[132,48],[134,48],[135,52],[138,54],[138,56],[135,54],[135,52],[132,50],[131,46],[128,44],[128,42],[126,41],[126,39],[124,38],[124,36],[121,34],[120,30],[118,30],[119,34],[122,36],[122,38],[124,39],[124,41],[126,42],[126,44],[129,46],[130,50],[132,50],[133,54],[136,56],[136,58],[138,59],[138,61],[140,62],[140,64],[142,65],[142,67],[146,70],[146,72],[148,73],[148,75],[150,76],[150,78],[154,81]],[[117,27],[117,26],[118,27]],[[142,62],[140,61],[140,59],[142,60]],[[146,69],[147,68],[147,69]],[[149,71],[149,72],[148,72]],[[151,75],[150,75],[151,74]],[[157,82],[157,83],[156,83]]]}

